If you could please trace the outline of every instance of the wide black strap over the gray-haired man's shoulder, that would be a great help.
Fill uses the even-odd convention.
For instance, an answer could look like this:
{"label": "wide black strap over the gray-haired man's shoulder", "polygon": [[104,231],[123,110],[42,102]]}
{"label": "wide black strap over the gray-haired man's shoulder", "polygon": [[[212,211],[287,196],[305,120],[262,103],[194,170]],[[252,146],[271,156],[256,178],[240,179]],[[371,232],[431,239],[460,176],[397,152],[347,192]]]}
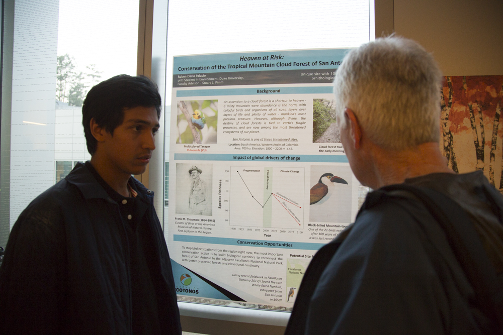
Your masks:
{"label": "wide black strap over the gray-haired man's shoulder", "polygon": [[[470,281],[478,306],[499,323],[495,333],[503,333],[503,285],[497,278],[473,222],[465,210],[448,196],[430,188],[396,184],[375,192],[393,194],[403,191],[413,195],[428,209],[445,232],[456,259]],[[500,211],[496,214],[499,214]]]}

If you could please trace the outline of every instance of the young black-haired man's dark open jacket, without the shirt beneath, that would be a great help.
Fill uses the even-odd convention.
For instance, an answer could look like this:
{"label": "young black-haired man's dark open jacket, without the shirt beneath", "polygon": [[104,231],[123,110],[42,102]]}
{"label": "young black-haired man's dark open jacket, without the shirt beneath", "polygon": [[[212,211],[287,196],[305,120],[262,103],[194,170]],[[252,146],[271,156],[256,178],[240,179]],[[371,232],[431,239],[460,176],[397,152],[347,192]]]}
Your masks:
{"label": "young black-haired man's dark open jacket, without the shirt beneath", "polygon": [[[162,333],[181,334],[175,283],[153,192],[141,221]],[[0,268],[0,333],[132,333],[130,255],[119,205],[78,164],[14,225]]]}

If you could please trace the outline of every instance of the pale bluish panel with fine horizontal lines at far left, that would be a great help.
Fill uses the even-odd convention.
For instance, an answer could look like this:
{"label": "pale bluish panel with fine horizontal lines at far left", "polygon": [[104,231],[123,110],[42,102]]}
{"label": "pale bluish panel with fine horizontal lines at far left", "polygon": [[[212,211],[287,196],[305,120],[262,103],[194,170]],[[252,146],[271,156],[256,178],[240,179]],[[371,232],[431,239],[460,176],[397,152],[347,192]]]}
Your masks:
{"label": "pale bluish panel with fine horizontal lines at far left", "polygon": [[28,203],[54,184],[54,73],[59,2],[17,0],[15,6],[11,228]]}

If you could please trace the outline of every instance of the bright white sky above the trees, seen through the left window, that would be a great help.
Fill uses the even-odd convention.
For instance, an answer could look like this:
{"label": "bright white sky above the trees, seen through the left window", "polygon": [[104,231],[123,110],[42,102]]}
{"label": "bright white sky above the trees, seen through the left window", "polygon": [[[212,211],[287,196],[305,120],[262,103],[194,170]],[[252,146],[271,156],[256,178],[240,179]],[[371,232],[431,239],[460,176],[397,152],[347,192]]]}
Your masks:
{"label": "bright white sky above the trees, seen through the left window", "polygon": [[77,73],[94,64],[98,81],[136,75],[138,8],[139,0],[59,0],[58,56],[73,57]]}

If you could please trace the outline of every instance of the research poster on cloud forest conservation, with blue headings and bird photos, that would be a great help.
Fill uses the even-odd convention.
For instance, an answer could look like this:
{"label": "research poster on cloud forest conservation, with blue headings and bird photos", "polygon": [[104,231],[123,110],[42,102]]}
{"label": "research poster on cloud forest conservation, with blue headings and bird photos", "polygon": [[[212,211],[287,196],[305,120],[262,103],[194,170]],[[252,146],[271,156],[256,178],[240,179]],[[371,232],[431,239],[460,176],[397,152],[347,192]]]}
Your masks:
{"label": "research poster on cloud forest conservation, with blue headings and bird photos", "polygon": [[174,57],[169,247],[179,299],[291,310],[354,220],[334,73],[346,49]]}

